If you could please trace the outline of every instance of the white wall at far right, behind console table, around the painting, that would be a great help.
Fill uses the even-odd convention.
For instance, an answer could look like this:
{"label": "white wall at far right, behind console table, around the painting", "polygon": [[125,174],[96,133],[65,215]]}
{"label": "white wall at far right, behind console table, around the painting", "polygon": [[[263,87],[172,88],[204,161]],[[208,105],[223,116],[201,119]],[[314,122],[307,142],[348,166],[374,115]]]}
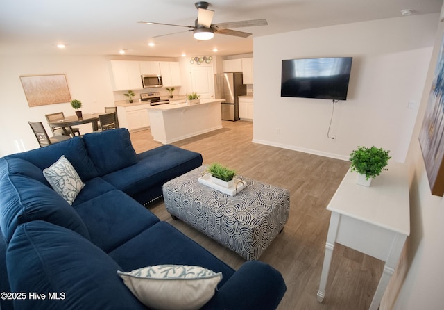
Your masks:
{"label": "white wall at far right, behind console table, around the painting", "polygon": [[404,257],[384,297],[381,309],[416,310],[444,308],[444,199],[430,192],[418,136],[441,42],[444,23],[436,32],[434,53],[427,74],[420,111],[407,155],[410,172],[410,237]]}

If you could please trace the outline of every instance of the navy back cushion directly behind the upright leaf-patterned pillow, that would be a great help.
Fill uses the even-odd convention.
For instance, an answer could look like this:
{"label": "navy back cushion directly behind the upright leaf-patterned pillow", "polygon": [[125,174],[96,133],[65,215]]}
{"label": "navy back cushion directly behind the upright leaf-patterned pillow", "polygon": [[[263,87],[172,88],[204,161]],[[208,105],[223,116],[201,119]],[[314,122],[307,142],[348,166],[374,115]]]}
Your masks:
{"label": "navy back cushion directly behind the upright leaf-patterned pillow", "polygon": [[47,147],[31,149],[28,152],[12,154],[6,157],[22,158],[44,170],[44,168],[48,168],[53,163],[56,163],[62,155],[65,155],[73,165],[83,182],[99,176],[93,161],[88,156],[85,142],[80,137],[74,137],[63,142],[48,145]]}

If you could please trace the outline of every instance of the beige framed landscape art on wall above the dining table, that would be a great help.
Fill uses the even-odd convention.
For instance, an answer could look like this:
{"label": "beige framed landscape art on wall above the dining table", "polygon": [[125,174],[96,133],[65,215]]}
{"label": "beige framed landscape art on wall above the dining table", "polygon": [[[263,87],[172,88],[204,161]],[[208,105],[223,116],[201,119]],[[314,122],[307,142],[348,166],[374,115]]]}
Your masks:
{"label": "beige framed landscape art on wall above the dining table", "polygon": [[28,106],[44,106],[71,101],[65,74],[20,76]]}

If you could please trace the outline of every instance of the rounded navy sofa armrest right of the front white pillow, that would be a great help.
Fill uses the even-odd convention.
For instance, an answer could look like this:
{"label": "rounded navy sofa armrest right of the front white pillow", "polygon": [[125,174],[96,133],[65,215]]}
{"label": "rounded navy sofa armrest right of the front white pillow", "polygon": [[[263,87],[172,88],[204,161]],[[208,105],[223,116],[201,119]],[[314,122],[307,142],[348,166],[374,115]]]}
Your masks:
{"label": "rounded navy sofa armrest right of the front white pillow", "polygon": [[248,261],[202,309],[276,309],[285,291],[278,270],[261,261]]}

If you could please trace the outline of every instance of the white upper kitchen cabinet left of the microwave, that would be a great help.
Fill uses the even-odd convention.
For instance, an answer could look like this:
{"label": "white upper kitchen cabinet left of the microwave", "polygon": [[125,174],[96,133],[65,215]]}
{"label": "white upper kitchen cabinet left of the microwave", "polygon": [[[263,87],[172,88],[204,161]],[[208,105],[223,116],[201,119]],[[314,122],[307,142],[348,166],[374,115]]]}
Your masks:
{"label": "white upper kitchen cabinet left of the microwave", "polygon": [[112,88],[117,90],[142,89],[140,68],[138,61],[111,60]]}

